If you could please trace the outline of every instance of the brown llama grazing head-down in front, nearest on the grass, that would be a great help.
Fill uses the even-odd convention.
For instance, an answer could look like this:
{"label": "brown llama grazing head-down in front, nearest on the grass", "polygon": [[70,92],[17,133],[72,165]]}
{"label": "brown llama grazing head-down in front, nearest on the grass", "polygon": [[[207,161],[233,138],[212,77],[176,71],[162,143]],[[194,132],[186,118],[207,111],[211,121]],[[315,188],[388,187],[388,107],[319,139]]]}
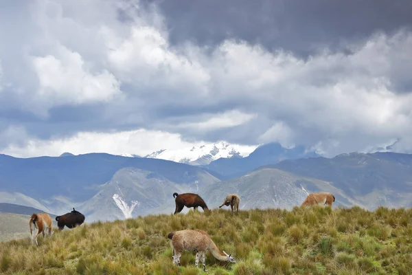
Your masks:
{"label": "brown llama grazing head-down in front, nearest on the grass", "polygon": [[203,270],[205,272],[207,272],[205,264],[205,254],[207,250],[209,250],[211,254],[219,261],[236,263],[236,260],[233,259],[230,254],[227,254],[225,251],[220,252],[215,243],[210,239],[207,232],[203,230],[186,229],[170,232],[168,234],[168,238],[171,240],[170,245],[173,250],[172,259],[175,265],[180,265],[183,250],[195,251],[195,265],[198,267],[199,260],[201,260],[203,263]]}

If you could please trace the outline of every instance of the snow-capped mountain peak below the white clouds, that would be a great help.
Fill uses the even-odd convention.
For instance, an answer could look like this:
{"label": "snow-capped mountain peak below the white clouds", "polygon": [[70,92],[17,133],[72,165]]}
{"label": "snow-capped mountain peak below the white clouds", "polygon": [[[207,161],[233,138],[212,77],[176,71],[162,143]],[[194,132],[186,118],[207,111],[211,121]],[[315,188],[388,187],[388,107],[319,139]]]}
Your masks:
{"label": "snow-capped mountain peak below the white clouds", "polygon": [[162,149],[145,157],[166,159],[191,165],[207,165],[220,157],[247,157],[257,147],[258,145],[245,146],[220,141],[181,149]]}

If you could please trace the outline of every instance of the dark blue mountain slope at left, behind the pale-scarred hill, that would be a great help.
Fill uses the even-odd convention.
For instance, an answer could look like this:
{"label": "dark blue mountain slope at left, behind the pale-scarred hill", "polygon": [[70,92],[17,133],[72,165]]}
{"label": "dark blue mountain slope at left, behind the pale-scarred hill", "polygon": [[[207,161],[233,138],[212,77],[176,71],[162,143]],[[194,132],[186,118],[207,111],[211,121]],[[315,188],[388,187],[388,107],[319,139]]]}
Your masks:
{"label": "dark blue mountain slope at left, behind the pale-scarred hill", "polygon": [[[176,184],[191,184],[207,177],[217,180],[203,168],[163,159],[105,153],[27,159],[0,155],[0,193],[4,194],[0,202],[12,202],[10,194],[23,194],[28,197],[25,201],[33,201],[26,206],[44,206],[42,209],[56,214],[67,212],[95,196],[102,184],[125,167],[146,170]],[[34,206],[36,201],[41,206]]]}

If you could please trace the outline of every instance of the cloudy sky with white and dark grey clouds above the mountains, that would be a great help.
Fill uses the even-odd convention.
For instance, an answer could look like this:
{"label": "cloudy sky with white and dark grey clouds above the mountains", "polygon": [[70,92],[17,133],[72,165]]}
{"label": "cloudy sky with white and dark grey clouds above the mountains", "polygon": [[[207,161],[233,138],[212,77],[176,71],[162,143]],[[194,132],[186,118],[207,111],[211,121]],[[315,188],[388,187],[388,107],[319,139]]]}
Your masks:
{"label": "cloudy sky with white and dark grey clouds above the mountains", "polygon": [[0,1],[0,153],[412,153],[412,1]]}

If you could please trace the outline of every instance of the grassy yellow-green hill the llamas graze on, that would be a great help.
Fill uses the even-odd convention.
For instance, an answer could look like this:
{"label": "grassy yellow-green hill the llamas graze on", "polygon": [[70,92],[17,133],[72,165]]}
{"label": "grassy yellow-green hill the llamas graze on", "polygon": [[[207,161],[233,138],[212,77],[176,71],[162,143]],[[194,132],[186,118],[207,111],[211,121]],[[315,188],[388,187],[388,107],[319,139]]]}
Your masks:
{"label": "grassy yellow-green hill the llamas graze on", "polygon": [[206,230],[238,263],[208,252],[208,274],[410,274],[412,210],[293,208],[153,215],[0,243],[3,274],[204,274],[195,254],[172,265],[169,232]]}

